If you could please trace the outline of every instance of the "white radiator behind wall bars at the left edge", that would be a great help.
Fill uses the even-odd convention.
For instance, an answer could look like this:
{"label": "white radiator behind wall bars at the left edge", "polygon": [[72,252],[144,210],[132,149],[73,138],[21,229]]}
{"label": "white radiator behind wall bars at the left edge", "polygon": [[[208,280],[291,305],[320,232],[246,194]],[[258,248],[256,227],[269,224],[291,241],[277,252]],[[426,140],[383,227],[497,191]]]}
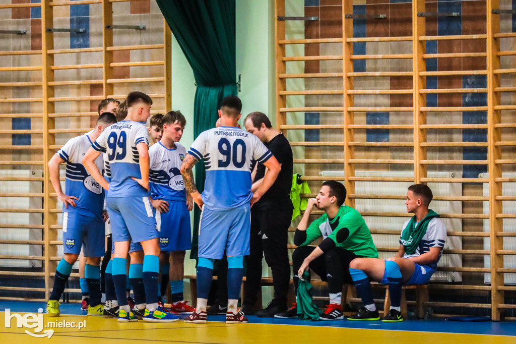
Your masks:
{"label": "white radiator behind wall bars at the left edge", "polygon": [[[42,177],[42,170],[0,170],[2,177]],[[42,193],[42,181],[0,181],[2,193]],[[43,209],[43,199],[37,197],[0,197],[0,207],[14,209]],[[2,213],[0,240],[42,240],[42,229],[9,228],[13,225],[42,225],[42,213]],[[2,255],[42,256],[43,245],[0,244]],[[40,268],[42,261],[28,259],[0,259],[0,267]]]}

